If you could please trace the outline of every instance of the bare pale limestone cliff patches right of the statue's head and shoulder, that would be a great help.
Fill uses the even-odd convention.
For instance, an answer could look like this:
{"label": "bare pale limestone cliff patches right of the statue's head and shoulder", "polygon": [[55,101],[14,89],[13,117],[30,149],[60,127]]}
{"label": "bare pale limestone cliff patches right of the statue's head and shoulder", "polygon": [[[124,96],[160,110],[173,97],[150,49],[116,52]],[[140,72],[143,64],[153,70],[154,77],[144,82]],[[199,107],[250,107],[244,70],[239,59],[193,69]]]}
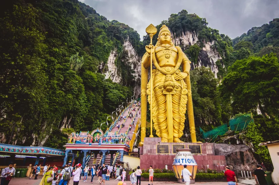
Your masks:
{"label": "bare pale limestone cliff patches right of the statue's head and shoulder", "polygon": [[[179,37],[174,37],[172,35],[172,38],[173,43],[176,46],[181,47],[186,47],[187,45],[191,46],[197,43],[198,41],[197,33],[195,31],[186,31],[185,34],[182,33],[182,35]],[[191,68],[194,69],[198,66],[209,67],[211,71],[214,73],[215,78],[217,78],[218,67],[216,66],[216,62],[217,60],[221,60],[222,58],[220,57],[217,50],[212,47],[214,42],[204,42],[203,44],[204,47],[199,53],[199,59],[197,61],[197,64],[191,63]]]}

